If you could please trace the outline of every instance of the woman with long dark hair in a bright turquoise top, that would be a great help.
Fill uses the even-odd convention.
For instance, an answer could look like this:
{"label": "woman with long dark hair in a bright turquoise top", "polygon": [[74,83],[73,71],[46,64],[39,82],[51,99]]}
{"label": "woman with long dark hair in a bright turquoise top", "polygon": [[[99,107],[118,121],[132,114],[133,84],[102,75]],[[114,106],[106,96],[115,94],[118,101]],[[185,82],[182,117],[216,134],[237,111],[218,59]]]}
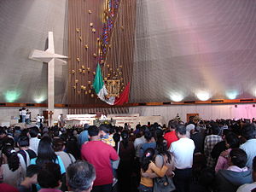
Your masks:
{"label": "woman with long dark hair in a bright turquoise top", "polygon": [[38,157],[32,159],[31,164],[42,166],[44,163],[48,162],[58,164],[61,167],[61,174],[66,172],[61,158],[55,154],[51,139],[49,137],[43,137],[38,145]]}

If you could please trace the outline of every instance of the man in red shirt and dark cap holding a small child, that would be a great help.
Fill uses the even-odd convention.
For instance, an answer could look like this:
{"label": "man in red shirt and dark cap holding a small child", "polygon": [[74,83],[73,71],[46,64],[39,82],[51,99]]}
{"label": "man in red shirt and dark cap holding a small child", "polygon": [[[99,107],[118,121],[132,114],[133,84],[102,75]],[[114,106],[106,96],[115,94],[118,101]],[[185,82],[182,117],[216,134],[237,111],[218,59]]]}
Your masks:
{"label": "man in red shirt and dark cap holding a small child", "polygon": [[81,157],[96,169],[96,180],[92,192],[111,192],[113,169],[110,161],[119,160],[119,155],[113,147],[101,141],[99,129],[96,126],[89,127],[88,135],[90,142],[82,145]]}

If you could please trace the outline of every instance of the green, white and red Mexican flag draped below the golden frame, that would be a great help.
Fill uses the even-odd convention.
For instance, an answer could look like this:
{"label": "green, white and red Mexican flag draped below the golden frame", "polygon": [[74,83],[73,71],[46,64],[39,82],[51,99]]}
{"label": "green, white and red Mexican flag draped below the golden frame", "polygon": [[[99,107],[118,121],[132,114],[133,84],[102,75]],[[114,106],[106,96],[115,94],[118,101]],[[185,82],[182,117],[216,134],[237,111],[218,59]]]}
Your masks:
{"label": "green, white and red Mexican flag draped below the golden frame", "polygon": [[97,64],[93,88],[96,91],[97,96],[103,102],[107,102],[109,105],[123,105],[125,102],[128,102],[129,100],[130,82],[125,86],[125,90],[119,95],[119,97],[110,96],[108,98],[108,90],[104,84],[102,78],[102,69],[99,64]]}

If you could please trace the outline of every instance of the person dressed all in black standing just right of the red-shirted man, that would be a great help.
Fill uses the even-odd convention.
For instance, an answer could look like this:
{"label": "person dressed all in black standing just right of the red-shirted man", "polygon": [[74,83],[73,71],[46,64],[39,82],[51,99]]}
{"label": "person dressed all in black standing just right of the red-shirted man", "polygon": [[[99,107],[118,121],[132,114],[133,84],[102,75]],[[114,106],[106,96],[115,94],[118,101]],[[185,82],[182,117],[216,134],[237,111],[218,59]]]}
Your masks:
{"label": "person dressed all in black standing just right of the red-shirted man", "polygon": [[119,190],[122,192],[131,191],[131,174],[135,158],[135,149],[131,142],[129,142],[128,131],[121,132],[122,141],[118,144],[119,148],[119,168],[118,180]]}

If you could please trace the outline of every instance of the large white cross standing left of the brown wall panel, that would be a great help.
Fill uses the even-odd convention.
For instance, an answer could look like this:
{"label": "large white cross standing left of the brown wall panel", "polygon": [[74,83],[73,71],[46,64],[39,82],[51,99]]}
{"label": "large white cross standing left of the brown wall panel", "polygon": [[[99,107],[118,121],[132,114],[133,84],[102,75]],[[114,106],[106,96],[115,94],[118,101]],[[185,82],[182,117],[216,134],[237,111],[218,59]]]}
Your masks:
{"label": "large white cross standing left of the brown wall panel", "polygon": [[67,59],[67,56],[55,54],[53,32],[48,32],[48,49],[34,49],[29,58],[48,63],[48,122],[52,126],[52,113],[55,110],[55,59]]}

